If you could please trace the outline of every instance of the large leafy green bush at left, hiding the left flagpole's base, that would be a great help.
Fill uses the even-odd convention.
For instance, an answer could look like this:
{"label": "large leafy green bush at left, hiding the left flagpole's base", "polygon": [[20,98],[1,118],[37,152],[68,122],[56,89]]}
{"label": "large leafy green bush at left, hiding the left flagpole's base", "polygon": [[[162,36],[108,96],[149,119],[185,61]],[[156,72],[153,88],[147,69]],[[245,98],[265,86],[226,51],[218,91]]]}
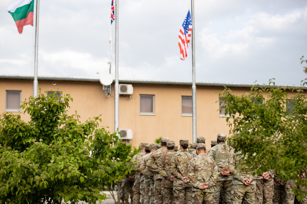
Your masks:
{"label": "large leafy green bush at left, hiding the left flagpole's base", "polygon": [[[40,89],[41,91],[41,89]],[[99,189],[131,170],[117,160],[119,139],[100,128],[99,117],[68,116],[70,95],[39,94],[21,107],[31,120],[0,117],[0,203],[101,202]]]}

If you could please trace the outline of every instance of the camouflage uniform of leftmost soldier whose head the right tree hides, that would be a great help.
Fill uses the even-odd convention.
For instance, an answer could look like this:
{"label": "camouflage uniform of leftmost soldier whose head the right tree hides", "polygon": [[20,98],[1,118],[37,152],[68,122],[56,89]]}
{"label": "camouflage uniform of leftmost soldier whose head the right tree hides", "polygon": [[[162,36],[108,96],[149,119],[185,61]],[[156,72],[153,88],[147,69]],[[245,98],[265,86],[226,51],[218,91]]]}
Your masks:
{"label": "camouflage uniform of leftmost soldier whose head the right tree hides", "polygon": [[[231,150],[229,154],[229,171],[233,175],[232,188],[231,188],[231,202],[234,204],[241,204],[242,199],[245,199],[246,203],[255,204],[256,193],[256,176],[252,176],[250,173],[241,172],[239,169],[239,160],[243,158],[241,152],[235,153]],[[251,179],[252,182],[249,185],[242,183],[244,178]]]}

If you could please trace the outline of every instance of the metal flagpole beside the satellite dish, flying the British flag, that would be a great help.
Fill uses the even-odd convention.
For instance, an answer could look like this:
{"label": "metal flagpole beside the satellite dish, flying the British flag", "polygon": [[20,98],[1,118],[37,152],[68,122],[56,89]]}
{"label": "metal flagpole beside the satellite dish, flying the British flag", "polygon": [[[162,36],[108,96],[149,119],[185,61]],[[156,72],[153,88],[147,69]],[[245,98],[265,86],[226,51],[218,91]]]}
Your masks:
{"label": "metal flagpole beside the satellite dish, flying the British flag", "polygon": [[118,81],[118,0],[115,0],[115,110],[114,127],[115,132],[119,128],[119,81]]}

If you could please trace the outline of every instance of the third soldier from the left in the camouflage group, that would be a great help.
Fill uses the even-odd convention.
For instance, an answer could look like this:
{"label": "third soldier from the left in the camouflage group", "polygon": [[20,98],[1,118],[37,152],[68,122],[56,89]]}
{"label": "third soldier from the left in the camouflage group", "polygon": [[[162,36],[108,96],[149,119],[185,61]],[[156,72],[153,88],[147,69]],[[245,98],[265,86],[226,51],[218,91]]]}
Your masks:
{"label": "third soldier from the left in the camouflage group", "polygon": [[[156,149],[156,144],[151,143],[150,149]],[[144,176],[144,182],[143,182],[144,203],[150,203],[150,195],[151,195],[150,184],[151,184],[151,180],[153,179],[153,172],[151,172],[147,168],[146,164],[151,154],[153,154],[153,152],[150,152],[149,154],[146,154],[145,156],[143,156],[140,161],[140,171],[142,175]]]}

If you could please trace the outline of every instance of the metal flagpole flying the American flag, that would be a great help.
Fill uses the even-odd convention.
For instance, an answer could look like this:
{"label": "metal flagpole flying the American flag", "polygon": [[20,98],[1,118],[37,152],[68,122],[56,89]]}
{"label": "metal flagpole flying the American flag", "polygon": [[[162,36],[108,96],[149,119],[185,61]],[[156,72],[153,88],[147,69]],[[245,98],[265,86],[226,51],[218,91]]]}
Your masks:
{"label": "metal flagpole flying the American flag", "polygon": [[191,16],[192,16],[192,139],[196,142],[196,83],[195,83],[195,21],[194,21],[194,0],[191,0]]}

